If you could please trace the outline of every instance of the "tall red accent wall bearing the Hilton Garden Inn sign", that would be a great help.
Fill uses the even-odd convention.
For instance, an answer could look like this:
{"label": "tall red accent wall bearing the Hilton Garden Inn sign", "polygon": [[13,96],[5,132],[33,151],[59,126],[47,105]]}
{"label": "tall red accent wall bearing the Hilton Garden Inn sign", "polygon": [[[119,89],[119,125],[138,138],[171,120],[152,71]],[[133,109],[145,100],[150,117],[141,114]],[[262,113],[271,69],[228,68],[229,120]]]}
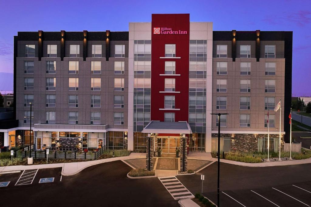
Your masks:
{"label": "tall red accent wall bearing the Hilton Garden Inn sign", "polygon": [[[151,120],[164,121],[164,113],[175,113],[175,122],[188,121],[189,102],[189,14],[152,14],[151,21]],[[172,31],[187,31],[187,34],[154,34],[154,27],[172,28]],[[165,44],[176,44],[176,57],[163,59]],[[176,74],[180,76],[160,76],[165,74],[165,61],[176,62]],[[165,78],[175,78],[175,91],[180,93],[159,93],[164,91]],[[177,110],[164,108],[164,96],[175,95]]]}

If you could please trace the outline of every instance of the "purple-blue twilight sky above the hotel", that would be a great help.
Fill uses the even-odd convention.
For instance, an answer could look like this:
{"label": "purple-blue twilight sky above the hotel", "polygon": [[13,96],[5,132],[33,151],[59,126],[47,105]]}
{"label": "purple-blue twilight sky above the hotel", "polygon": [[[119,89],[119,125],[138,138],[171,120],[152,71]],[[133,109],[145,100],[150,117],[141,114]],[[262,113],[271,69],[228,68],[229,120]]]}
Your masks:
{"label": "purple-blue twilight sky above the hotel", "polygon": [[150,22],[152,13],[190,13],[190,21],[212,21],[213,30],[293,31],[292,94],[311,96],[309,0],[0,0],[0,8],[0,82],[3,76],[12,78],[3,73],[13,73],[13,36],[17,31],[128,31],[128,22]]}

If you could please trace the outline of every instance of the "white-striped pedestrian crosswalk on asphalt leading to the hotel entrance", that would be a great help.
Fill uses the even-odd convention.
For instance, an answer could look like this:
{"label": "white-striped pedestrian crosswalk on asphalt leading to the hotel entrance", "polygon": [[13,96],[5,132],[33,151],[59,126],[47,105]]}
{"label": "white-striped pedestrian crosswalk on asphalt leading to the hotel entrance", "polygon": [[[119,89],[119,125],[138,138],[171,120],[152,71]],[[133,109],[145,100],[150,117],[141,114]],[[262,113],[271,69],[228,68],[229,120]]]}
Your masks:
{"label": "white-striped pedestrian crosswalk on asphalt leading to the hotel entrance", "polygon": [[158,177],[165,189],[175,200],[194,198],[194,195],[175,176]]}

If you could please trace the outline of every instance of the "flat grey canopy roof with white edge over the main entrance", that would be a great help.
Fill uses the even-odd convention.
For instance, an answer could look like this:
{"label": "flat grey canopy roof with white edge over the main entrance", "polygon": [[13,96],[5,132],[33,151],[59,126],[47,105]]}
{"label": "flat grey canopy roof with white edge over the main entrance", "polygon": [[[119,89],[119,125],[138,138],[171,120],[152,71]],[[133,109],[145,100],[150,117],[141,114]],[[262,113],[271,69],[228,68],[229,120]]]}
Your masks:
{"label": "flat grey canopy roof with white edge over the main entrance", "polygon": [[142,133],[192,134],[192,131],[188,122],[151,121]]}

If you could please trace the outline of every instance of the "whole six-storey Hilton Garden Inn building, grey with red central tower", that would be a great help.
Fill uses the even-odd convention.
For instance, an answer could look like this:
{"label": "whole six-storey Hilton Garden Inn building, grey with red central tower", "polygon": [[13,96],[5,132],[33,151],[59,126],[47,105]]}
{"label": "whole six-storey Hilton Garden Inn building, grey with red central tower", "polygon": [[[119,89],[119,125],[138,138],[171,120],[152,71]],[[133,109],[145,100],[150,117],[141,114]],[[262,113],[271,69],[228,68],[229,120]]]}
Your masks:
{"label": "whole six-storey Hilton Garden Inn building, grey with red central tower", "polygon": [[278,150],[273,109],[281,100],[286,139],[292,32],[212,28],[189,14],[152,14],[151,22],[129,23],[128,32],[18,32],[18,122],[2,123],[4,145],[18,137],[37,149],[146,150],[154,133],[154,145],[173,154],[185,134],[189,150],[211,152],[218,128],[211,113],[228,113],[220,120],[222,150],[265,151],[269,111]]}

